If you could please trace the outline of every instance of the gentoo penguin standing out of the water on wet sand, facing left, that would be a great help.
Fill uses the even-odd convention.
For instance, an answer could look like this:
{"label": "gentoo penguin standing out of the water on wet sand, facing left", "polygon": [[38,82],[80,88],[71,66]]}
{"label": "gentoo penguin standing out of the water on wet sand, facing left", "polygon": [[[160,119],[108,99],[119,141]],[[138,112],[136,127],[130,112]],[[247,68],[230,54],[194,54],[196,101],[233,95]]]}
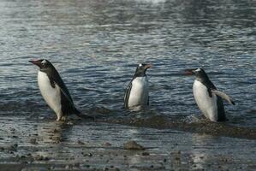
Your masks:
{"label": "gentoo penguin standing out of the water on wet sand, facing left", "polygon": [[51,62],[45,59],[29,62],[40,68],[38,73],[39,89],[45,102],[56,113],[57,121],[65,121],[69,114],[92,119],[91,116],[82,115],[80,111],[74,107],[68,88]]}

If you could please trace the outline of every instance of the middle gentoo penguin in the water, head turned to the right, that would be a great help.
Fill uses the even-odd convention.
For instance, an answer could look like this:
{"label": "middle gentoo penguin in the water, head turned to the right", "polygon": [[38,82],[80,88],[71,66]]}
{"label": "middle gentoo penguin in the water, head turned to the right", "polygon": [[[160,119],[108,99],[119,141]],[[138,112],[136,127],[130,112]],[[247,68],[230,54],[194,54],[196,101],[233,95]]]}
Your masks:
{"label": "middle gentoo penguin in the water, head turned to the right", "polygon": [[124,95],[124,107],[134,108],[148,105],[148,80],[146,69],[151,68],[150,64],[140,63],[136,68],[133,80],[128,84]]}

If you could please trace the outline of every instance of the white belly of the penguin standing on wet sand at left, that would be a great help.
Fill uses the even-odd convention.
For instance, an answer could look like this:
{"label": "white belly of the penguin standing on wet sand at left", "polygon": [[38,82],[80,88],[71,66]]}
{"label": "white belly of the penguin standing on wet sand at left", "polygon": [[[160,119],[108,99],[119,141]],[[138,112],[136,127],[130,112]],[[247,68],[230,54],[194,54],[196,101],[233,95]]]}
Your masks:
{"label": "white belly of the penguin standing on wet sand at left", "polygon": [[57,120],[62,117],[61,91],[58,85],[53,88],[51,82],[44,72],[39,71],[38,74],[39,89],[45,102],[57,114]]}

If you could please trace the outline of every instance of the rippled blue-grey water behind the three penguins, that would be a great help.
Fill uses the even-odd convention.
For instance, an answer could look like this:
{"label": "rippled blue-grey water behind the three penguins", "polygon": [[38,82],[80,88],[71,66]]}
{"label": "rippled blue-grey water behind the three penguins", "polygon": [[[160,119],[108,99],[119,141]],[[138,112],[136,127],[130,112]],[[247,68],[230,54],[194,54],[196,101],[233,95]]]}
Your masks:
{"label": "rippled blue-grey water behind the three penguins", "polygon": [[[205,68],[235,99],[229,124],[256,125],[256,2],[251,0],[1,0],[0,115],[55,117],[28,60],[50,60],[81,111],[128,115],[124,90],[152,63],[150,111],[200,117],[185,68]],[[131,117],[134,117],[132,115]]]}

